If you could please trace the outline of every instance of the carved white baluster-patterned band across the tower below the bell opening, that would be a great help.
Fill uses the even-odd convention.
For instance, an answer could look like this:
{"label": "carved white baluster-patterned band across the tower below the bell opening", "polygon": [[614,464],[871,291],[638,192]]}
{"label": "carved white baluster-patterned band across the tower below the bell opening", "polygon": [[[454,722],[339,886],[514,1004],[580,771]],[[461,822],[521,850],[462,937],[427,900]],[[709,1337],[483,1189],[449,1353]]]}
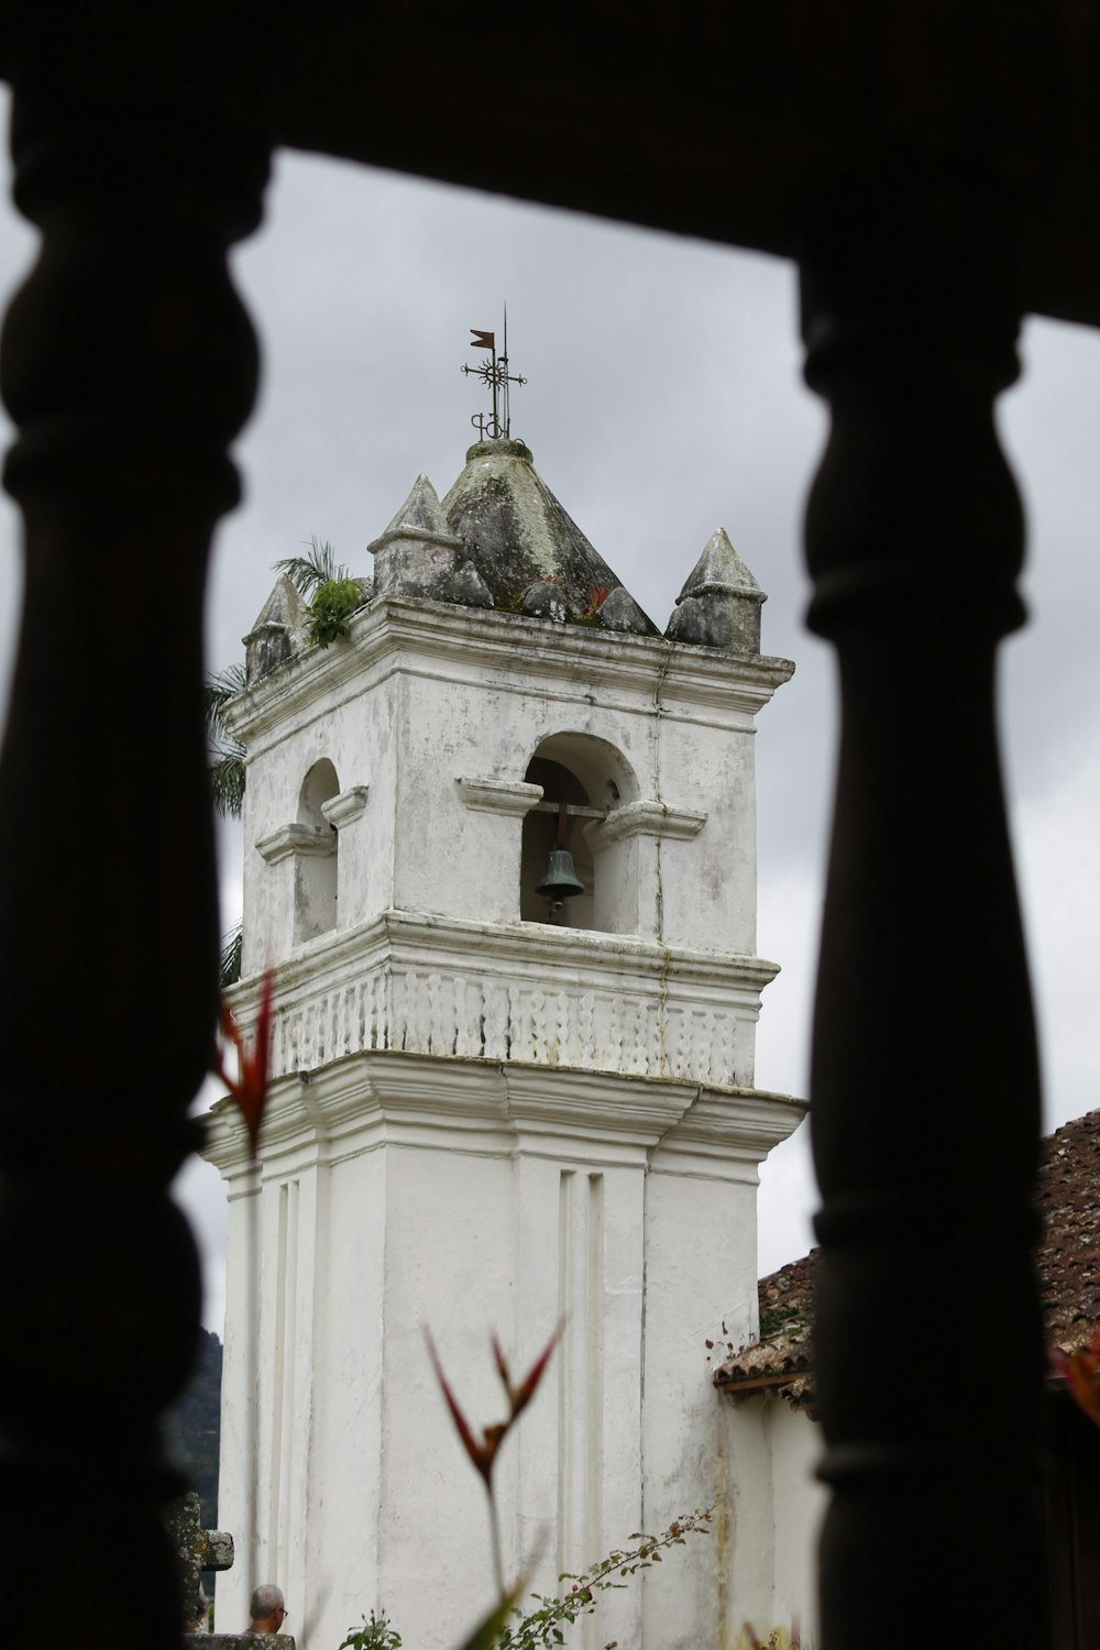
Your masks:
{"label": "carved white baluster-patterned band across the tower below the bell opening", "polygon": [[272,1076],[366,1049],[404,1049],[736,1084],[752,1081],[752,1018],[612,983],[376,969],[275,1008]]}

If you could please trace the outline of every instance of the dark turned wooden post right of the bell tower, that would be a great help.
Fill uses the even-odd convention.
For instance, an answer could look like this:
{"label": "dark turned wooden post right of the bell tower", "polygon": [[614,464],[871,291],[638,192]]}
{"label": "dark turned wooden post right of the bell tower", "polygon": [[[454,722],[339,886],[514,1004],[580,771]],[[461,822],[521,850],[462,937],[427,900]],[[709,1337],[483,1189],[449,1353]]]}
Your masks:
{"label": "dark turned wooden post right of the bell tower", "polygon": [[813,1041],[826,1650],[1047,1642],[1039,1084],[994,728],[1022,619],[993,403],[1011,214],[853,193],[803,262],[806,544],[841,751]]}

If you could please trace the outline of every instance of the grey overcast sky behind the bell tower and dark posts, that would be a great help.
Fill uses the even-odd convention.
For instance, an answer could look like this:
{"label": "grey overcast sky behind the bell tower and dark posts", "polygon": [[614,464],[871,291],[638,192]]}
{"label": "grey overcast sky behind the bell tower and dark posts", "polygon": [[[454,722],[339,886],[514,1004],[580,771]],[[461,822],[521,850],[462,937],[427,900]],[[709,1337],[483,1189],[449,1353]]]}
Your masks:
{"label": "grey overcast sky behind the bell tower and dark posts", "polygon": [[[31,229],[5,208],[5,299],[33,248]],[[237,447],[246,502],[216,538],[211,667],[241,657],[272,563],[310,533],[330,538],[353,573],[369,573],[364,546],[416,475],[425,470],[440,497],[450,487],[482,406],[458,371],[478,360],[468,333],[498,328],[505,299],[513,371],[529,380],[513,393],[513,434],[661,629],[707,538],[726,526],[769,591],[764,652],[797,662],[757,724],[759,949],[783,970],[764,997],[757,1084],[805,1094],[834,683],[828,647],[803,627],[800,521],[825,412],[800,380],[793,271],[299,155],[279,160],[266,226],[234,266],[262,338],[264,381]],[[1027,510],[1032,624],[1003,650],[1001,724],[1054,1127],[1097,1104],[1100,1068],[1100,335],[1029,322],[1022,358],[1001,429]],[[7,498],[0,512],[7,696],[20,558]],[[950,573],[928,544],[928,602],[935,610],[943,601]],[[226,835],[224,846],[228,926],[239,842]],[[955,992],[950,949],[943,957],[943,975],[912,1005],[915,1038]],[[762,1272],[811,1242],[805,1135],[764,1168]],[[221,1328],[221,1181],[200,1165],[181,1190],[208,1252],[208,1323]]]}

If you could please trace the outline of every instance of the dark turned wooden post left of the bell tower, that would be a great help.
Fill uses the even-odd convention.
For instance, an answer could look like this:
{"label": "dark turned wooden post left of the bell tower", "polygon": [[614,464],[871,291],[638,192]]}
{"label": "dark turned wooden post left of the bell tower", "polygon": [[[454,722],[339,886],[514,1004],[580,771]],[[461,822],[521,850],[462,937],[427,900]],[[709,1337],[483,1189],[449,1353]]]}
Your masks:
{"label": "dark turned wooden post left of the bell tower", "polygon": [[180,1637],[160,1510],[181,1485],[157,1417],[196,1338],[168,1183],[216,1020],[203,589],[257,380],[226,248],[259,219],[267,147],[221,96],[241,43],[213,50],[216,8],[175,8],[178,38],[168,13],[134,7],[127,33],[106,8],[119,38],[91,71],[96,8],[45,0],[5,38],[15,196],[43,236],[0,353],[26,551],[0,761],[0,1592],[16,1645]]}

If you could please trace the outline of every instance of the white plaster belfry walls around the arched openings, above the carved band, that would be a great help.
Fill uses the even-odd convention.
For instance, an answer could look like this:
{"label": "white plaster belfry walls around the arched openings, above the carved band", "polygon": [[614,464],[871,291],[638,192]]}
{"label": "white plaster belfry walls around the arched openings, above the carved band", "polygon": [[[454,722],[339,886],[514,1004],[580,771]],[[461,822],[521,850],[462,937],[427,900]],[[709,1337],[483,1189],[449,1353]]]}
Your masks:
{"label": "white plaster belfry walls around the arched openings, above the carved band", "polygon": [[[313,764],[328,757],[371,787],[340,866],[340,927],[394,908],[516,922],[526,812],[516,787],[534,751],[567,736],[617,752],[637,787],[623,802],[646,805],[633,815],[633,853],[632,832],[604,833],[600,858],[622,851],[609,874],[625,881],[604,901],[602,931],[750,955],[752,719],[788,675],[785,660],[378,597],[351,620],[348,644],[295,657],[229,711],[249,747],[246,972],[295,950],[292,898],[264,848],[297,818]],[[480,817],[470,782],[482,785],[480,808],[496,782],[515,810],[490,805]]]}

